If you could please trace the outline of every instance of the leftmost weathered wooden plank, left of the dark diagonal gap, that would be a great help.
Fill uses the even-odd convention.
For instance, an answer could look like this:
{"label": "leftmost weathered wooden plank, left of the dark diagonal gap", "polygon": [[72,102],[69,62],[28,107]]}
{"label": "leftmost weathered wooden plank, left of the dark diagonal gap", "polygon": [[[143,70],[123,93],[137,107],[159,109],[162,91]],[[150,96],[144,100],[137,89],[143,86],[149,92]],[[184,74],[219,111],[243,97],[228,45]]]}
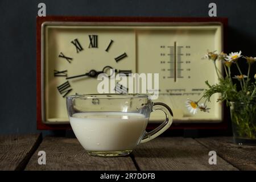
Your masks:
{"label": "leftmost weathered wooden plank, left of the dark diagonal gap", "polygon": [[23,170],[41,141],[41,134],[0,136],[0,170]]}

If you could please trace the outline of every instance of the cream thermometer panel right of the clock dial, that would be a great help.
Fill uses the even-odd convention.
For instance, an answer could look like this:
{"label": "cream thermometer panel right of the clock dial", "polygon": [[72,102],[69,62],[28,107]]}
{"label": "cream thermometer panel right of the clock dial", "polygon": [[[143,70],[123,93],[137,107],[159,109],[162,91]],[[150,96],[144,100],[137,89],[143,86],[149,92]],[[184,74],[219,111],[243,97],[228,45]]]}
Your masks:
{"label": "cream thermometer panel right of the clock dial", "polygon": [[[159,73],[159,98],[156,102],[170,105],[174,122],[221,121],[222,106],[216,102],[219,94],[214,94],[212,102],[207,103],[210,113],[199,111],[194,115],[185,106],[188,98],[199,100],[207,89],[206,80],[211,84],[218,82],[213,63],[201,58],[207,49],[221,52],[221,37],[221,26],[174,26],[158,27],[150,32],[137,31],[138,72]],[[148,60],[151,60],[150,64]],[[221,69],[220,61],[217,67]],[[161,114],[153,114],[151,122]]]}

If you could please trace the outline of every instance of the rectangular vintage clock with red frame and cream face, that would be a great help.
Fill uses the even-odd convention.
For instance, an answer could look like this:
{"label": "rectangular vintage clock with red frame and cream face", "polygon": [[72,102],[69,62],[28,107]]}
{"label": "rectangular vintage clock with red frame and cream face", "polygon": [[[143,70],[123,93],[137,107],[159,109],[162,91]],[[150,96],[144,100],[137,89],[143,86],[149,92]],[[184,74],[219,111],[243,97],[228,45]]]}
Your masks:
{"label": "rectangular vintage clock with red frame and cream face", "polygon": [[[65,96],[97,93],[97,75],[110,68],[127,76],[159,73],[158,101],[172,108],[177,128],[224,127],[218,94],[210,113],[189,114],[185,100],[199,98],[205,80],[218,81],[201,57],[207,49],[224,50],[226,24],[225,18],[38,17],[38,128],[69,127]],[[161,121],[160,115],[150,122]]]}

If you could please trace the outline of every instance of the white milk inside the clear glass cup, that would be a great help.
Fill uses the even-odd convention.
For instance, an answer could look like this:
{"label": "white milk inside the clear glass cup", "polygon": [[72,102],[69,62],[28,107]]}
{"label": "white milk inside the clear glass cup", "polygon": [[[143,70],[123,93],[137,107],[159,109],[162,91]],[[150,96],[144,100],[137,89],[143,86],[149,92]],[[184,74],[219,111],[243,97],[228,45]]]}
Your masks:
{"label": "white milk inside the clear glass cup", "polygon": [[76,113],[69,118],[81,145],[88,151],[133,150],[143,135],[148,118],[139,113]]}

